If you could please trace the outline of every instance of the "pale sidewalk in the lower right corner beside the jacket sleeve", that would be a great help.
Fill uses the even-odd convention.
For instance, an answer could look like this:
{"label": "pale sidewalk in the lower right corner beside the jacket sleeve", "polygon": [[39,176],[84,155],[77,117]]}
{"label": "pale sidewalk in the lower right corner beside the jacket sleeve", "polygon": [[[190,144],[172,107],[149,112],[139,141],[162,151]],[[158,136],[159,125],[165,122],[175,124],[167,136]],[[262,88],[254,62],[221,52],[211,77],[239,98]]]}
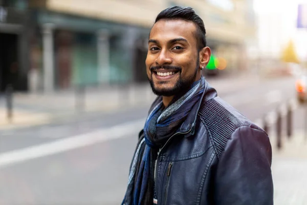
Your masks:
{"label": "pale sidewalk in the lower right corner beside the jacket sleeve", "polygon": [[275,137],[271,137],[271,144],[274,204],[307,204],[307,140],[304,133],[297,131],[290,139],[284,136],[279,151]]}

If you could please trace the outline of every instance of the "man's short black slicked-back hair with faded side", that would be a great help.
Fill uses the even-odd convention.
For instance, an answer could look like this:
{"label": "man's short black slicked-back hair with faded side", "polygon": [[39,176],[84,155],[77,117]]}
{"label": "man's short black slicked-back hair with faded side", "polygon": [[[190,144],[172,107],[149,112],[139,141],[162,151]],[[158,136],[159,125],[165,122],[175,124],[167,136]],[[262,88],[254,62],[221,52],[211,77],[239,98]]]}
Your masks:
{"label": "man's short black slicked-back hair with faded side", "polygon": [[183,19],[189,22],[193,22],[196,25],[196,40],[198,43],[198,51],[206,47],[206,29],[202,18],[197,15],[191,7],[173,6],[161,11],[156,20],[155,24],[161,19]]}

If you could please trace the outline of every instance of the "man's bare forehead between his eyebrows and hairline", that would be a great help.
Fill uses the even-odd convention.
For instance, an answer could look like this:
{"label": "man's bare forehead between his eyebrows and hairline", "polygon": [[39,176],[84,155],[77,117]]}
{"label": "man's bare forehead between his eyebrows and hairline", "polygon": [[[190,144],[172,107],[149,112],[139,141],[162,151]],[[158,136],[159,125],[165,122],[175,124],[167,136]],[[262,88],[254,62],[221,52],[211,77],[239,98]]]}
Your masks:
{"label": "man's bare forehead between his eyebrows and hairline", "polygon": [[194,38],[194,33],[196,31],[196,26],[193,22],[189,22],[183,19],[162,19],[159,20],[151,28],[150,38],[174,38],[174,37],[185,37]]}

